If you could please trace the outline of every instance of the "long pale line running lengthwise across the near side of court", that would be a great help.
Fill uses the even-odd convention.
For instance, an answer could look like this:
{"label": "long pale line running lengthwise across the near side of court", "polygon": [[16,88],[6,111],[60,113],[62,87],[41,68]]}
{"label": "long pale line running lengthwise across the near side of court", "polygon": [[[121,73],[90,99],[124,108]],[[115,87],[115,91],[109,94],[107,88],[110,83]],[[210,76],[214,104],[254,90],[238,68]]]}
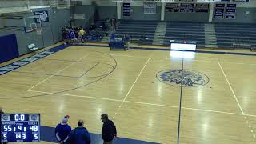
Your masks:
{"label": "long pale line running lengthwise across the near side of court", "polygon": [[[28,90],[30,92],[38,92],[38,93],[45,93],[45,94],[55,94],[54,92],[46,92],[46,91],[39,91],[39,90]],[[91,97],[91,96],[86,96],[86,95],[78,95],[78,94],[63,94],[63,93],[57,93],[55,95],[65,95],[69,97],[77,97],[77,98],[90,98],[90,99],[101,99],[101,100],[108,100],[108,101],[113,101],[113,102],[122,102],[122,99],[113,99],[113,98],[101,98],[101,97]],[[150,103],[150,102],[134,102],[134,101],[124,101],[127,103],[135,103],[135,104],[141,104],[141,105],[149,105],[149,106],[162,106],[162,107],[170,107],[170,108],[178,108],[179,106],[169,106],[169,105],[163,105],[163,104],[156,104],[156,103]],[[191,108],[191,107],[182,107],[184,110],[198,110],[202,112],[212,112],[212,113],[218,113],[218,114],[231,114],[231,115],[240,115],[243,116],[242,114],[238,113],[231,113],[231,112],[226,112],[226,111],[218,111],[218,110],[205,110],[205,109],[198,109],[198,108]],[[251,114],[244,114],[248,117],[254,117],[256,118],[256,115],[251,115]]]}

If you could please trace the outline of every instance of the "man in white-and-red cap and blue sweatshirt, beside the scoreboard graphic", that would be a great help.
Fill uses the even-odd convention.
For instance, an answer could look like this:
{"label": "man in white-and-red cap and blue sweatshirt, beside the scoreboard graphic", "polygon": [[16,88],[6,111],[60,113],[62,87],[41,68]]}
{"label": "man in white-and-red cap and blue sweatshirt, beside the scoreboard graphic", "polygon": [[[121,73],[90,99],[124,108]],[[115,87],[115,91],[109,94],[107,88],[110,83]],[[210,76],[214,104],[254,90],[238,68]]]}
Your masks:
{"label": "man in white-and-red cap and blue sweatshirt, beside the scoreboard graphic", "polygon": [[71,127],[67,124],[69,118],[70,116],[66,115],[55,128],[55,136],[60,143],[66,143],[69,138],[71,132]]}

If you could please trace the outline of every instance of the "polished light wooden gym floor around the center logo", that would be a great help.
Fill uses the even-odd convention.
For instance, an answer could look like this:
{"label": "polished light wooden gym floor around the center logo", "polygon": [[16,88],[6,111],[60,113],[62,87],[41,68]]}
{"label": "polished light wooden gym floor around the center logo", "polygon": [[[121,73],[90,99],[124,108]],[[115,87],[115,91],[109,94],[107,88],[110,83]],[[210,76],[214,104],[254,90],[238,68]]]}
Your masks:
{"label": "polished light wooden gym floor around the center logo", "polygon": [[[182,95],[179,143],[255,144],[255,62],[246,55],[70,46],[0,76],[0,106],[7,113],[41,113],[43,126],[69,114],[72,127],[82,118],[97,134],[106,113],[119,137],[172,144]],[[182,63],[209,82],[181,91],[156,77],[182,70]]]}

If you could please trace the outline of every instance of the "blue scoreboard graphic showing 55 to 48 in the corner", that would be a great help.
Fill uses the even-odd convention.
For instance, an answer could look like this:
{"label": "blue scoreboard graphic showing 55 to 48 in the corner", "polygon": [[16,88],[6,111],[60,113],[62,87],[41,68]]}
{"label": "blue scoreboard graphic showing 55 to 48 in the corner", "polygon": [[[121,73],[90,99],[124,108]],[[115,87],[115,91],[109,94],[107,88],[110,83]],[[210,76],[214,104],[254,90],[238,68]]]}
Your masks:
{"label": "blue scoreboard graphic showing 55 to 48 in the corner", "polygon": [[40,114],[2,114],[1,142],[40,142]]}

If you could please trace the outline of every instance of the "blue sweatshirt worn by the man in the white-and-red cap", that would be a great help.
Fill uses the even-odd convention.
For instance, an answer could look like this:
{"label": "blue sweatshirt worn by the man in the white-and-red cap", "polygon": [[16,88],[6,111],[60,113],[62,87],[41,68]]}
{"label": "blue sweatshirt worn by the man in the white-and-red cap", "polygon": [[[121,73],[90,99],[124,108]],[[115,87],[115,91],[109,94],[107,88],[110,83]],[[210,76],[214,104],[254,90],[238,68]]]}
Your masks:
{"label": "blue sweatshirt worn by the man in the white-and-red cap", "polygon": [[68,124],[59,123],[55,128],[55,136],[58,142],[66,142],[68,135],[71,132],[71,127]]}

